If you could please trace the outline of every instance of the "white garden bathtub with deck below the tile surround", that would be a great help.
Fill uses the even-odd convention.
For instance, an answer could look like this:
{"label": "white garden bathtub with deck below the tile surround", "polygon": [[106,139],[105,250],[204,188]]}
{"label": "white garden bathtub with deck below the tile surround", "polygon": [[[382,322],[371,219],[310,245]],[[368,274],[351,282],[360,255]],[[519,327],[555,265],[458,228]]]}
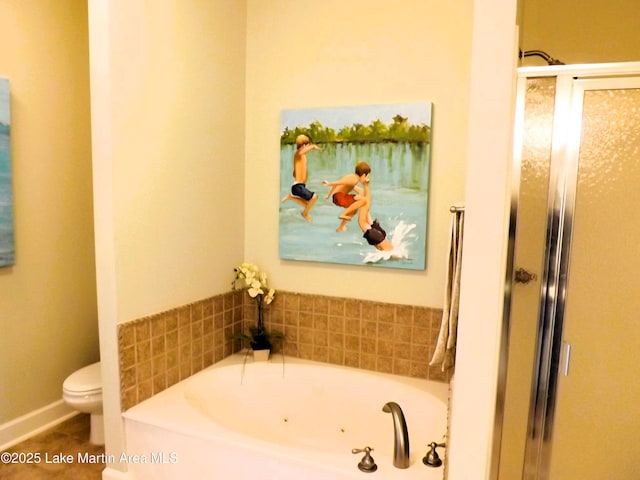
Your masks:
{"label": "white garden bathtub with deck below the tile surround", "polygon": [[[128,471],[145,480],[440,480],[442,467],[422,457],[443,441],[447,394],[443,383],[236,354],[124,413]],[[382,411],[389,401],[406,418],[407,469],[393,466],[393,421]],[[351,452],[365,446],[374,473],[358,470],[363,454]]]}

